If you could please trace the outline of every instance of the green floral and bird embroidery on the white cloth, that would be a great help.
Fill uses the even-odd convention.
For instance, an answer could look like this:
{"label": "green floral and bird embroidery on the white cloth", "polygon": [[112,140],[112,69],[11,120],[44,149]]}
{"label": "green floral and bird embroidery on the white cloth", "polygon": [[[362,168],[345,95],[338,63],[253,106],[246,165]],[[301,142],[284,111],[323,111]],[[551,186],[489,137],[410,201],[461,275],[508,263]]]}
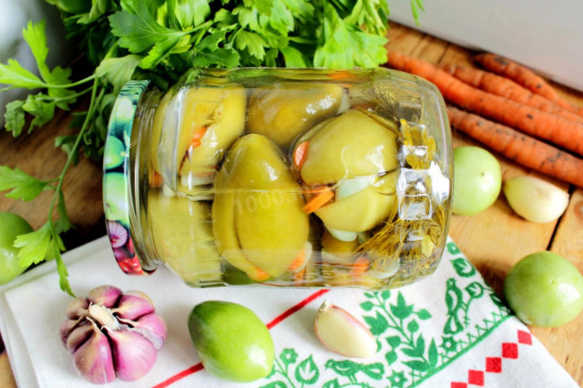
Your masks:
{"label": "green floral and bird embroidery on the white cloth", "polygon": [[[451,242],[447,250],[460,253]],[[363,322],[376,337],[385,362],[329,359],[322,365],[312,354],[283,349],[268,377],[271,382],[262,387],[403,388],[416,386],[443,370],[510,316],[496,293],[478,280],[468,260],[459,257],[449,263],[456,276],[445,281],[443,307],[414,305],[402,291],[363,292]],[[493,302],[487,304],[489,310],[472,309],[474,301],[481,298]],[[440,310],[433,310],[436,308]],[[441,331],[435,331],[438,324],[444,325]]]}

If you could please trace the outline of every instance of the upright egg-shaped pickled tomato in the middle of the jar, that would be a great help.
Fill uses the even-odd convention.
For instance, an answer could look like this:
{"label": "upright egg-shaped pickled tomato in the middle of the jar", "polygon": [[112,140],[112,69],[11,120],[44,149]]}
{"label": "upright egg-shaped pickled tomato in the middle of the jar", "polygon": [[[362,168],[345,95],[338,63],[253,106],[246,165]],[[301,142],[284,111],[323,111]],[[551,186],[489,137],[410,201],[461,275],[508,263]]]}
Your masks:
{"label": "upright egg-shaped pickled tomato in the middle of the jar", "polygon": [[310,222],[280,148],[262,135],[239,138],[215,189],[212,230],[222,257],[253,281],[281,276],[306,249]]}

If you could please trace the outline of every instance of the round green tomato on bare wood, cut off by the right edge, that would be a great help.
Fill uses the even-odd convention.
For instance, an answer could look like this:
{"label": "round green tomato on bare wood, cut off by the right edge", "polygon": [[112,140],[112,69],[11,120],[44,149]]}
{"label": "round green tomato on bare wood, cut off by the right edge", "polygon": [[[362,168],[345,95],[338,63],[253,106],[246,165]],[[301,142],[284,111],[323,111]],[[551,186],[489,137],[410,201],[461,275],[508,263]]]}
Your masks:
{"label": "round green tomato on bare wood, cut off by the right edge", "polygon": [[541,251],[517,262],[506,276],[504,294],[522,322],[557,327],[583,310],[583,276],[570,261]]}

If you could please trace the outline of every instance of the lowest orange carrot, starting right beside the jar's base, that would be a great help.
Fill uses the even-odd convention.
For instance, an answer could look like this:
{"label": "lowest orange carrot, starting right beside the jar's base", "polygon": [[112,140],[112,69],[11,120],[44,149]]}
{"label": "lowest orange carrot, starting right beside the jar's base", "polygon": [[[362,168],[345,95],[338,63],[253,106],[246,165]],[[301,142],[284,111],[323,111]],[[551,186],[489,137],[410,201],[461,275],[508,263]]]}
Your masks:
{"label": "lowest orange carrot, starting right beside the jar's base", "polygon": [[447,107],[453,128],[475,138],[494,151],[556,179],[583,188],[583,159],[575,158],[536,138],[455,107]]}

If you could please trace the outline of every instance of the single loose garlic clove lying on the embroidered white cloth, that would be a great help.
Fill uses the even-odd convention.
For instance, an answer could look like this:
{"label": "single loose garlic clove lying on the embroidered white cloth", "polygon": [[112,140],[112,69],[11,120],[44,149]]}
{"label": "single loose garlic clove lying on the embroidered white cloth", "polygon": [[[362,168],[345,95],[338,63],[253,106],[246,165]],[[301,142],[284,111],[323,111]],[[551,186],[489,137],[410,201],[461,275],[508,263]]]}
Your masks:
{"label": "single loose garlic clove lying on the embroidered white cloth", "polygon": [[314,322],[316,336],[332,352],[347,357],[371,357],[376,352],[373,333],[348,311],[324,301]]}

